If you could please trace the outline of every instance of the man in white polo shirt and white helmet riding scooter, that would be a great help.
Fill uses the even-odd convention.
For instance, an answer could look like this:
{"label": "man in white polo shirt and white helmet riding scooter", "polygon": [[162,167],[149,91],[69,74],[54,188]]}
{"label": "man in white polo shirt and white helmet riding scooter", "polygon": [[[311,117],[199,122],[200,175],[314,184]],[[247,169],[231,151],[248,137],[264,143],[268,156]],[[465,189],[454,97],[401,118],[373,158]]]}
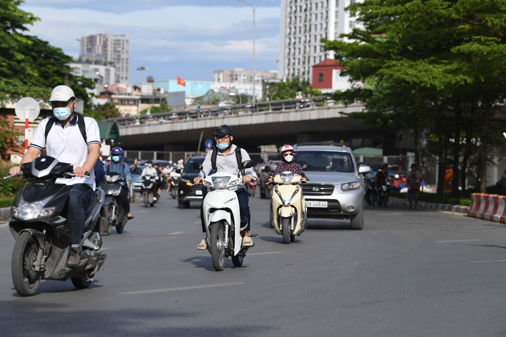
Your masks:
{"label": "man in white polo shirt and white helmet riding scooter", "polygon": [[[100,156],[100,131],[95,119],[78,116],[74,112],[77,102],[73,90],[69,87],[55,87],[51,92],[49,102],[56,119],[46,118],[38,124],[33,140],[21,163],[33,161],[46,147],[48,156],[74,165],[75,178],[58,178],[56,183],[67,184],[70,188],[67,226],[72,234],[72,242],[67,264],[75,266],[79,264],[86,210],[95,198],[94,167]],[[78,122],[79,118],[83,120]],[[53,122],[49,130],[46,128],[48,122]],[[82,132],[79,130],[79,124],[83,129]],[[49,133],[46,135],[47,131]],[[19,171],[20,166],[12,167],[10,174],[16,174]],[[89,177],[85,177],[86,172],[90,173]]]}

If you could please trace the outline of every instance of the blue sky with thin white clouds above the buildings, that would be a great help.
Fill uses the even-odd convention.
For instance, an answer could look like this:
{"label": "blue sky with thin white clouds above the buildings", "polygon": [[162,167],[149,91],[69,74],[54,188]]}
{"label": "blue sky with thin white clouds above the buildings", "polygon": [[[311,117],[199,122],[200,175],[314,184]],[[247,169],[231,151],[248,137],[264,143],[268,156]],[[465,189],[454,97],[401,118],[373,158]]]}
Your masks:
{"label": "blue sky with thin white clouds above the buildings", "polygon": [[[265,0],[249,0],[258,5]],[[280,0],[256,15],[256,68],[277,70]],[[252,68],[252,10],[238,0],[25,0],[21,9],[41,20],[31,35],[70,56],[83,34],[130,37],[130,82],[143,79],[212,80],[213,71]]]}

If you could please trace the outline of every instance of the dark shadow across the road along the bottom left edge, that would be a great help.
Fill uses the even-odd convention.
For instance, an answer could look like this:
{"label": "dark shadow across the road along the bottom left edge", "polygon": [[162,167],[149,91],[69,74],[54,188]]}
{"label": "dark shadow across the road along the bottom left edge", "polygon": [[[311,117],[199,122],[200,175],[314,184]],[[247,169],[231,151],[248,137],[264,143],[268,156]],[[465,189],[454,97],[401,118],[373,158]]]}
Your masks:
{"label": "dark shadow across the road along the bottom left edge", "polygon": [[[135,296],[135,295],[134,295]],[[167,296],[170,300],[170,296]],[[27,300],[27,299],[25,299]],[[30,300],[27,300],[30,301]],[[184,326],[189,321],[198,324],[193,312],[177,309],[79,310],[64,304],[31,301],[0,301],[3,308],[3,332],[6,335],[107,335],[107,336],[232,336],[266,334],[272,327],[241,323],[212,326]],[[20,313],[23,313],[22,315]],[[107,320],[107,322],[104,322]],[[175,326],[180,325],[180,326]],[[273,332],[271,330],[271,332]]]}

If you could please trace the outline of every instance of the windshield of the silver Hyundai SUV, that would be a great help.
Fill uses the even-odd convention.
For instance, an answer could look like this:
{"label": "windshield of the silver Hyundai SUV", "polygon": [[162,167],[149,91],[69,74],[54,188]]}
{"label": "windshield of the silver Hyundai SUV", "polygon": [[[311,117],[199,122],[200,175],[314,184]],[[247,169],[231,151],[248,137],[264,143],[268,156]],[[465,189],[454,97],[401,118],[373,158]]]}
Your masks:
{"label": "windshield of the silver Hyundai SUV", "polygon": [[297,151],[295,161],[301,166],[311,164],[305,171],[355,172],[353,160],[348,152],[339,151]]}

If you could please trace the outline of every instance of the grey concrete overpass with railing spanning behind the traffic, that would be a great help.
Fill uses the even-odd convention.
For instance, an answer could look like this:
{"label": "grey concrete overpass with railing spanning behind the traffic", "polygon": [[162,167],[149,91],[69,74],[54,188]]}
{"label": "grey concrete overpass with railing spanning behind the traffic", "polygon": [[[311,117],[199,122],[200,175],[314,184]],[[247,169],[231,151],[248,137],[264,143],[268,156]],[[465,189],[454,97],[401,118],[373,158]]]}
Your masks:
{"label": "grey concrete overpass with railing spanning behind the traffic", "polygon": [[234,130],[236,144],[249,151],[269,144],[307,141],[341,141],[384,137],[385,131],[370,128],[348,117],[363,111],[362,104],[334,105],[326,98],[285,100],[251,105],[168,112],[114,119],[120,129],[121,147],[129,150],[196,151],[219,125]]}

